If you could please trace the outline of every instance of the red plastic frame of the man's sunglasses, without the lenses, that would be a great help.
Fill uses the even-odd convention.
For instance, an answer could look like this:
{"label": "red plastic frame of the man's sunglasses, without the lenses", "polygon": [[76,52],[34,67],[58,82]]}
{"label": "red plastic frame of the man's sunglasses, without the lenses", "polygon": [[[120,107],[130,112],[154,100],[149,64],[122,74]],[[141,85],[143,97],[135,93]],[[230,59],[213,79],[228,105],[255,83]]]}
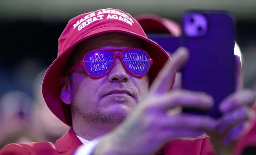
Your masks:
{"label": "red plastic frame of the man's sunglasses, without the lenses", "polygon": [[[93,52],[93,51],[99,51],[99,50],[109,51],[109,52],[113,53],[114,60],[113,60],[113,62],[112,62],[112,64],[111,64],[111,67],[109,68],[109,70],[108,70],[105,74],[103,74],[102,76],[92,76],[92,75],[89,74],[89,72],[88,72],[88,71],[86,70],[86,68],[85,68],[85,57],[86,57],[89,53],[91,53],[91,52]],[[151,65],[153,64],[153,60],[149,57],[149,54],[148,54],[146,51],[144,51],[144,52],[147,54],[147,56],[149,57],[149,67],[148,67],[147,71],[145,72],[145,74],[143,74],[143,75],[141,75],[141,76],[137,76],[137,75],[133,74],[132,72],[130,72],[130,70],[128,70],[128,68],[125,66],[124,61],[123,61],[123,59],[122,59],[122,54],[123,54],[124,52],[126,52],[126,51],[129,51],[129,50],[140,50],[140,51],[144,51],[144,50],[142,50],[142,49],[137,49],[137,48],[125,48],[125,49],[94,49],[94,50],[92,50],[92,51],[87,52],[87,53],[83,56],[83,60],[81,60],[80,62],[76,63],[72,68],[70,68],[70,69],[66,72],[66,75],[70,74],[70,72],[72,72],[73,70],[75,70],[78,66],[83,66],[83,70],[85,71],[85,73],[86,73],[88,76],[90,76],[90,77],[92,77],[92,78],[95,78],[95,79],[101,78],[101,77],[103,77],[103,76],[105,76],[105,75],[107,75],[107,74],[109,73],[109,71],[110,71],[110,70],[112,69],[112,67],[113,67],[113,64],[114,64],[114,62],[115,62],[115,60],[116,60],[116,57],[119,57],[120,60],[121,60],[121,62],[122,62],[122,65],[123,65],[124,68],[125,68],[125,70],[126,70],[130,75],[135,76],[135,77],[143,77],[143,76],[145,76],[145,75],[148,73],[149,68],[150,68]],[[115,52],[120,52],[120,53],[115,53]]]}

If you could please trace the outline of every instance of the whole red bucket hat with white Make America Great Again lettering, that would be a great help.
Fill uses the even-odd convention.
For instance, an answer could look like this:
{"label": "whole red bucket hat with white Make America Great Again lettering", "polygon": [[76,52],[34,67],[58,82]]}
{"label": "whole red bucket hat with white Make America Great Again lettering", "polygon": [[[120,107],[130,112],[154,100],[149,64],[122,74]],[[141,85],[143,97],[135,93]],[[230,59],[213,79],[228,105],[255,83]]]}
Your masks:
{"label": "whole red bucket hat with white Make America Great Again lettering", "polygon": [[42,84],[42,93],[48,108],[66,125],[72,126],[70,105],[60,99],[60,79],[64,67],[76,48],[83,40],[107,32],[120,32],[139,38],[148,52],[153,65],[149,70],[149,84],[164,66],[169,55],[155,42],[149,40],[140,24],[128,13],[118,9],[100,9],[84,13],[71,19],[58,40],[58,55],[52,62]]}

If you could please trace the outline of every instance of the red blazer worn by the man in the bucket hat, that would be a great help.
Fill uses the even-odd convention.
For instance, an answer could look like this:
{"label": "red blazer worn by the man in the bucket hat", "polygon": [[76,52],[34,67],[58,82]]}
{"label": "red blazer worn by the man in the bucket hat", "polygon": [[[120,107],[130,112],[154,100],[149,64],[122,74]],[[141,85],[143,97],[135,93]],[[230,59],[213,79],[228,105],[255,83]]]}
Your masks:
{"label": "red blazer worn by the man in the bucket hat", "polygon": [[[72,155],[82,145],[71,128],[54,146],[50,142],[9,144],[0,150],[0,155]],[[234,155],[240,155],[246,146],[256,147],[255,127],[239,140]],[[213,155],[209,137],[180,139],[163,147],[164,155]]]}

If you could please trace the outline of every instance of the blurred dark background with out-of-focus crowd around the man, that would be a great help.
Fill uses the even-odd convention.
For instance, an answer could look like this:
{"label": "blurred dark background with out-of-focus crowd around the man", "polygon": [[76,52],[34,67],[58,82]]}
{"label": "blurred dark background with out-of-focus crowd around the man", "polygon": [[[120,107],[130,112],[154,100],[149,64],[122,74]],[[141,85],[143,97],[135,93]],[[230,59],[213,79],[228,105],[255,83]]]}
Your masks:
{"label": "blurred dark background with out-of-focus crowd around the man", "polygon": [[255,6],[254,0],[1,0],[0,148],[14,142],[54,143],[68,130],[45,105],[41,83],[72,17],[116,8],[131,15],[155,13],[179,21],[184,9],[229,10],[237,20],[244,86],[256,91]]}

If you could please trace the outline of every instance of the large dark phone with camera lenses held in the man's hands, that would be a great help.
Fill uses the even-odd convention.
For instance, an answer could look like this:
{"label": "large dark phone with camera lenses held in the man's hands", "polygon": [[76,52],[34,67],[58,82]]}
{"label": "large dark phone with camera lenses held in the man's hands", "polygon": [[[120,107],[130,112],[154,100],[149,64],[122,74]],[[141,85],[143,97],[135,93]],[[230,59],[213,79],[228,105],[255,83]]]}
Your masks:
{"label": "large dark phone with camera lenses held in the man's hands", "polygon": [[188,10],[182,18],[180,41],[190,53],[181,70],[182,88],[214,99],[211,110],[183,108],[183,112],[218,119],[219,104],[235,92],[235,19],[228,11]]}

